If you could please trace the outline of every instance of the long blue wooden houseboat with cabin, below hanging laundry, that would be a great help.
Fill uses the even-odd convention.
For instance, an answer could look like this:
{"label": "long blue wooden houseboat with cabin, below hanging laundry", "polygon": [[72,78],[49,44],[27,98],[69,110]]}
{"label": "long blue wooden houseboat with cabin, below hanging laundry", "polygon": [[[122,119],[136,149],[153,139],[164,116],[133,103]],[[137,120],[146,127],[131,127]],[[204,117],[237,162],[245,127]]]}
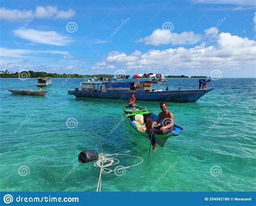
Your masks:
{"label": "long blue wooden houseboat with cabin, below hanging laundry", "polygon": [[[76,88],[69,90],[68,93],[75,95],[76,98],[128,100],[131,94],[134,94],[136,100],[140,101],[196,102],[213,90],[213,88],[207,88],[204,90],[165,91],[165,82],[166,80],[140,81],[139,83],[134,83],[134,81],[115,83],[84,81],[80,84],[82,90]],[[154,84],[155,87],[152,86]],[[163,90],[160,89],[160,86],[163,86]]]}

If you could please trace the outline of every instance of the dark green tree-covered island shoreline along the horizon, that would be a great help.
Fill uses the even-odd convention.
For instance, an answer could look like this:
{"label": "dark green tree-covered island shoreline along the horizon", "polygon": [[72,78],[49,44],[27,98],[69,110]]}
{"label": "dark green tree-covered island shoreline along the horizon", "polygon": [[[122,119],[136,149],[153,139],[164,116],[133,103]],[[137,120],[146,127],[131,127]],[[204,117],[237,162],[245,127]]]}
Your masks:
{"label": "dark green tree-covered island shoreline along the horizon", "polygon": [[[34,72],[34,71],[24,71],[29,73],[30,78],[37,77],[52,77],[52,78],[104,78],[104,77],[113,77],[114,74],[57,74],[57,73],[46,73],[46,72]],[[18,72],[9,72],[8,70],[2,70],[0,72],[0,78],[18,78]],[[185,75],[166,75],[166,78],[190,78]],[[207,78],[206,76],[192,76],[191,78]]]}

